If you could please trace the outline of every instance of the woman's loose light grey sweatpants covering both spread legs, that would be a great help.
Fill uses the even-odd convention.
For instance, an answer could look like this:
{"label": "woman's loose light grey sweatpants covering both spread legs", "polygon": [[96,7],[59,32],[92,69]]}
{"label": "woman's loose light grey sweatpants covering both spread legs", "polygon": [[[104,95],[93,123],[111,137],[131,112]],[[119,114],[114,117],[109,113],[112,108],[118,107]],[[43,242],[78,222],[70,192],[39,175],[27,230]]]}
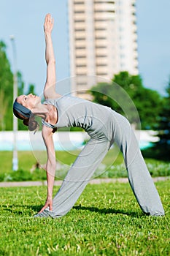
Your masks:
{"label": "woman's loose light grey sweatpants covering both spread legs", "polygon": [[112,143],[123,153],[128,180],[142,211],[152,216],[164,215],[161,199],[152,181],[139,149],[138,142],[127,119],[112,111],[105,132],[93,135],[70,168],[58,193],[53,198],[53,211],[45,209],[35,217],[64,216],[76,203]]}

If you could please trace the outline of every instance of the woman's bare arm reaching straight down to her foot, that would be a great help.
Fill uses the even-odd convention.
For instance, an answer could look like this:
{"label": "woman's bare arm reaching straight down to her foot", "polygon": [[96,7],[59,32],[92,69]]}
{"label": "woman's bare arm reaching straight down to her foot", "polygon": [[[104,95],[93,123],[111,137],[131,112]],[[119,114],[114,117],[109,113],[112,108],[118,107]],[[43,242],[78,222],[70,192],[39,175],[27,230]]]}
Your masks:
{"label": "woman's bare arm reaching straight down to her foot", "polygon": [[55,148],[53,143],[53,129],[44,126],[42,128],[42,137],[45,141],[45,146],[47,148],[47,200],[45,206],[39,212],[44,211],[47,207],[50,208],[50,211],[53,210],[53,185],[56,168]]}

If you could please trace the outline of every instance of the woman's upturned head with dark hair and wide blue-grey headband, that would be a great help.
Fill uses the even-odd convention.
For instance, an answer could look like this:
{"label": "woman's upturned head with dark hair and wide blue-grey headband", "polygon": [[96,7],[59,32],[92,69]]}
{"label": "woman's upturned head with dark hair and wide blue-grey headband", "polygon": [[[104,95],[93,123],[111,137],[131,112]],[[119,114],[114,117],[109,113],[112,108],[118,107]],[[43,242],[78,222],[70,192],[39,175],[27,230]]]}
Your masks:
{"label": "woman's upturned head with dark hair and wide blue-grey headband", "polygon": [[23,124],[26,125],[30,131],[34,131],[34,129],[38,127],[38,123],[34,118],[34,113],[31,112],[37,101],[39,102],[39,97],[33,94],[28,94],[20,95],[15,99],[13,104],[14,115],[23,120]]}

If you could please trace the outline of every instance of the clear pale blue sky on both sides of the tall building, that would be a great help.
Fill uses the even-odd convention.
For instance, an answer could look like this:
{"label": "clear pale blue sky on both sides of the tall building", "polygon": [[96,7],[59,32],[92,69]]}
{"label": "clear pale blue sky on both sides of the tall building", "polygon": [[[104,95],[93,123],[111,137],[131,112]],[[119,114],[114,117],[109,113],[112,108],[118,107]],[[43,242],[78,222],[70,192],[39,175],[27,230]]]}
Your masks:
{"label": "clear pale blue sky on both sides of the tall building", "polygon": [[[88,0],[87,0],[88,1]],[[17,66],[23,80],[36,85],[40,94],[45,84],[45,14],[55,18],[53,44],[58,80],[69,77],[69,35],[67,0],[0,0],[0,40],[7,45],[7,56],[13,67],[12,44],[15,35]],[[170,75],[170,1],[137,0],[139,74],[144,86],[164,94]],[[59,91],[66,93],[68,88]]]}

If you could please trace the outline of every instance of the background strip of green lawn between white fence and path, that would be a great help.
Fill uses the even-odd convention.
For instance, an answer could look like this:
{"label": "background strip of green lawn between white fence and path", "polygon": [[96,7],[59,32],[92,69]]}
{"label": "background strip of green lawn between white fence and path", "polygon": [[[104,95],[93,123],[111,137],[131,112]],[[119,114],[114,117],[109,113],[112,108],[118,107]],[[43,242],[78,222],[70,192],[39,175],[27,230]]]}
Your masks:
{"label": "background strip of green lawn between white fence and path", "polygon": [[[56,159],[60,163],[56,172],[56,179],[63,179],[66,176],[69,166],[76,159],[79,151],[56,151]],[[19,170],[12,171],[12,152],[0,151],[1,172],[0,181],[37,181],[45,180],[46,173],[43,169],[35,168],[36,162],[45,164],[47,154],[45,151],[18,151]],[[170,162],[145,159],[152,177],[170,176]],[[112,148],[104,158],[101,165],[93,175],[93,178],[118,178],[127,177],[122,154],[117,148]]]}

